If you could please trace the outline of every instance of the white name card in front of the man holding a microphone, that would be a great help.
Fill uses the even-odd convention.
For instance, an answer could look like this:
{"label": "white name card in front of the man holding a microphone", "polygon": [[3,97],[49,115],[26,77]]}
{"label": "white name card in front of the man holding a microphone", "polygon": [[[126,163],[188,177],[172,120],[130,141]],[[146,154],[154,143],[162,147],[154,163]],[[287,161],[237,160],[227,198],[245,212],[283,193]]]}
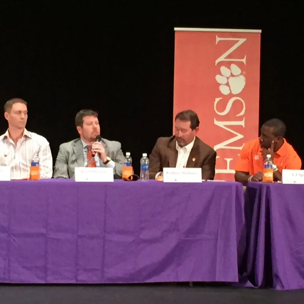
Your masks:
{"label": "white name card in front of the man holding a microphone", "polygon": [[113,168],[75,168],[75,181],[114,181]]}

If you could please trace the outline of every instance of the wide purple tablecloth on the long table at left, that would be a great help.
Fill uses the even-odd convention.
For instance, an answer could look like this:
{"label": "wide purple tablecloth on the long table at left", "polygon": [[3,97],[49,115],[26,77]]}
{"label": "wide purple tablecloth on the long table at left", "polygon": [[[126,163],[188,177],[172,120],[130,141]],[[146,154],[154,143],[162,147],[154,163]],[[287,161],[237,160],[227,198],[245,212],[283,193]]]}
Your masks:
{"label": "wide purple tablecloth on the long table at left", "polygon": [[238,281],[239,183],[53,179],[0,192],[0,282]]}

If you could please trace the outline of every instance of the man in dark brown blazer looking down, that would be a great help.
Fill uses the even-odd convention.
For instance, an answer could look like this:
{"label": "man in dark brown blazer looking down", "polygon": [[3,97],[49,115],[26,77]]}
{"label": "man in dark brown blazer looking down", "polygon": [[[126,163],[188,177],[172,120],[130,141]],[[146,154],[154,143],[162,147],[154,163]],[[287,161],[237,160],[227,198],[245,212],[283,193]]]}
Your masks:
{"label": "man in dark brown blazer looking down", "polygon": [[150,179],[161,178],[163,168],[202,168],[202,179],[214,179],[216,151],[196,137],[198,130],[192,110],[175,116],[175,135],[160,137],[150,154]]}

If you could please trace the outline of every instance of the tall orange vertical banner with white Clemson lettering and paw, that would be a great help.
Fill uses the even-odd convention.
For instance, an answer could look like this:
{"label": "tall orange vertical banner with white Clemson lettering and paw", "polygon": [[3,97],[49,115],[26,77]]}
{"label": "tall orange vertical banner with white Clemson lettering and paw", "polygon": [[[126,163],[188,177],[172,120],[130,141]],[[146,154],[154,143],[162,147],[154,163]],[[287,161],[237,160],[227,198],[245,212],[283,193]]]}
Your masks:
{"label": "tall orange vertical banner with white Clemson lettering and paw", "polygon": [[261,31],[174,30],[174,117],[198,114],[198,137],[217,152],[215,179],[234,180],[240,150],[258,136]]}

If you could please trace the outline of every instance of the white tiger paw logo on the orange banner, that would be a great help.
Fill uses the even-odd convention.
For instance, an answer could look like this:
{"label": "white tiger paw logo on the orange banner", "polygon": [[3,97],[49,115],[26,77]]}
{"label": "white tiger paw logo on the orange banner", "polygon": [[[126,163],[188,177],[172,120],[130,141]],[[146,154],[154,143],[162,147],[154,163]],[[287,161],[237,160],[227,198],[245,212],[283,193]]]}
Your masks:
{"label": "white tiger paw logo on the orange banner", "polygon": [[215,79],[220,84],[219,90],[223,95],[236,95],[243,91],[246,78],[241,75],[242,71],[236,64],[231,64],[230,69],[222,66],[220,71],[222,75],[216,75]]}

